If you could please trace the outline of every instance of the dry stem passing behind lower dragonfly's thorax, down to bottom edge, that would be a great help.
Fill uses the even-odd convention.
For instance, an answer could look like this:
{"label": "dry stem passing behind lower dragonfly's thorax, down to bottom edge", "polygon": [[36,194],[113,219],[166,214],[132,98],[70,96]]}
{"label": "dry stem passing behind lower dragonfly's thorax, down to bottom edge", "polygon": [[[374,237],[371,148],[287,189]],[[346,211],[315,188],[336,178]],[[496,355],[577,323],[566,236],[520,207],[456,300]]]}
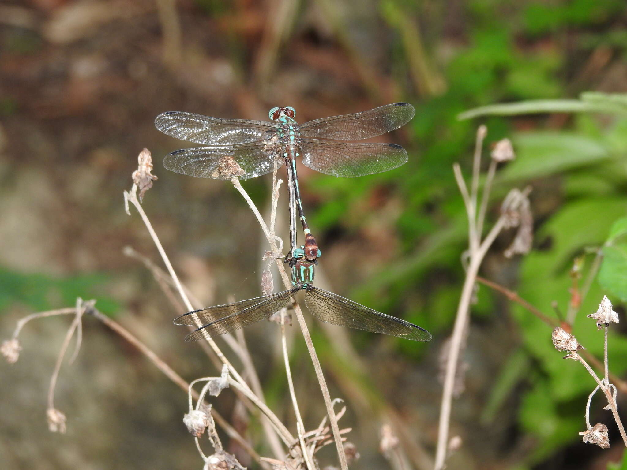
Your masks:
{"label": "dry stem passing behind lower dragonfly's thorax, down to bottom edge", "polygon": [[[270,246],[273,245],[275,241],[275,236],[270,233],[268,227],[266,227],[263,218],[261,217],[260,212],[255,206],[255,203],[250,199],[248,193],[245,191],[243,187],[241,187],[240,181],[236,179],[232,179],[234,187],[240,192],[241,196],[248,202],[248,206],[250,206],[253,214],[257,217],[257,220],[263,230],[263,233],[268,238],[268,243]],[[274,249],[274,248],[273,248]],[[277,259],[277,268],[278,272],[281,274],[281,278],[283,279],[283,285],[285,285],[286,289],[292,288],[292,283],[290,282],[290,278],[285,272],[285,266],[283,266],[283,262],[280,259]],[[348,464],[346,463],[346,455],[344,454],[344,446],[342,445],[342,436],[340,435],[339,426],[337,426],[337,417],[335,416],[335,411],[333,409],[333,404],[331,402],[331,396],[329,394],[329,387],[327,387],[327,382],[324,379],[324,375],[322,373],[322,367],[320,366],[320,360],[318,355],[315,352],[314,342],[312,342],[312,338],[309,334],[309,330],[307,328],[307,323],[305,323],[305,318],[303,317],[303,312],[300,310],[300,305],[296,301],[293,302],[294,312],[296,313],[296,318],[298,319],[298,325],[300,325],[300,329],[303,332],[303,338],[305,338],[305,344],[307,344],[307,350],[309,352],[310,357],[312,358],[312,363],[314,364],[314,370],[316,373],[316,377],[318,379],[318,384],[320,385],[320,390],[322,391],[322,397],[324,398],[324,404],[327,407],[327,414],[329,415],[329,421],[331,424],[331,429],[333,431],[333,438],[335,441],[335,447],[337,448],[337,454],[340,459],[340,468],[342,470],[348,469]]]}

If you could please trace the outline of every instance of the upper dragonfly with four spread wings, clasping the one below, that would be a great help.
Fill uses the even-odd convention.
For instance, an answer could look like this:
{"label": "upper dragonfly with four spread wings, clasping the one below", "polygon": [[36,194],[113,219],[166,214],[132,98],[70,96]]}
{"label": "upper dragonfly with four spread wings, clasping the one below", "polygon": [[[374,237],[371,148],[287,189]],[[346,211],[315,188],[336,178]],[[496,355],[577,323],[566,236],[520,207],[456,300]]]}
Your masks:
{"label": "upper dragonfly with four spread wings, clasping the one below", "polygon": [[[320,249],[305,220],[296,158],[305,166],[335,177],[357,177],[394,169],[407,161],[400,145],[349,143],[377,137],[406,124],[414,117],[409,103],[393,103],[361,113],[316,119],[302,125],[292,107],[276,107],[273,122],[221,119],[182,111],[161,113],[155,127],[161,132],[204,147],[176,150],[166,155],[164,167],[189,176],[213,179],[248,179],[287,166],[290,191],[290,266],[305,258],[316,263]],[[296,212],[305,233],[304,248],[297,248]]]}

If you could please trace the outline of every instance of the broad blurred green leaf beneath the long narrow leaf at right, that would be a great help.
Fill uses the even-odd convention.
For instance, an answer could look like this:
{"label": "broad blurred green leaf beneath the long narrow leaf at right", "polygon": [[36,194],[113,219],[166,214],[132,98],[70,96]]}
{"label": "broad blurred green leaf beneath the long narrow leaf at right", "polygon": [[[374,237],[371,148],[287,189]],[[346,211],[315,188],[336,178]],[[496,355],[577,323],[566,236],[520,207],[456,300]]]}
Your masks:
{"label": "broad blurred green leaf beneath the long narrow leaf at right", "polygon": [[609,158],[598,140],[568,132],[520,133],[514,149],[517,158],[503,170],[502,180],[544,177]]}

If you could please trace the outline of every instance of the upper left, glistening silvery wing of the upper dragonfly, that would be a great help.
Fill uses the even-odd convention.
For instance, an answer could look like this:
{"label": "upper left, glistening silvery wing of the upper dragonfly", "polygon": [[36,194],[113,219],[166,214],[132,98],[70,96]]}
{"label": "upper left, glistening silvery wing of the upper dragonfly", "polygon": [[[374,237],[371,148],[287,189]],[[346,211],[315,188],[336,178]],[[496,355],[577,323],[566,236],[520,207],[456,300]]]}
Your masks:
{"label": "upper left, glistening silvery wing of the upper dragonfly", "polygon": [[172,137],[203,145],[259,142],[278,129],[271,122],[221,119],[182,111],[161,113],[155,119],[155,127]]}

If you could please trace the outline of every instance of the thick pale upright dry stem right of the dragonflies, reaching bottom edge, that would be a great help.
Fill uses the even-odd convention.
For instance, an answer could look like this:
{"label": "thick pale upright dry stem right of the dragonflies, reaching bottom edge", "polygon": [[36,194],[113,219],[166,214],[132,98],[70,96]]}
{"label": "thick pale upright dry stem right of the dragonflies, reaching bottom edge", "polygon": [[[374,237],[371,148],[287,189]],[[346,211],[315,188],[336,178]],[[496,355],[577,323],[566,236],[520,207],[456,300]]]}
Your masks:
{"label": "thick pale upright dry stem right of the dragonflies, reaching bottom edge", "polygon": [[[470,214],[469,214],[470,216]],[[470,255],[470,264],[466,271],[466,279],[461,290],[460,303],[457,308],[453,336],[451,337],[450,350],[446,360],[446,374],[442,392],[442,404],[440,408],[440,424],[438,428],[438,446],[436,449],[435,469],[441,470],[446,461],[446,448],[448,447],[448,427],[451,417],[451,403],[453,401],[453,385],[455,384],[455,373],[460,355],[460,346],[463,341],[463,330],[468,321],[468,311],[470,310],[470,300],[472,298],[473,287],[477,281],[477,273],[483,261],[483,256],[492,245],[498,233],[503,228],[505,220],[499,217],[492,227],[483,243],[476,251]]]}

